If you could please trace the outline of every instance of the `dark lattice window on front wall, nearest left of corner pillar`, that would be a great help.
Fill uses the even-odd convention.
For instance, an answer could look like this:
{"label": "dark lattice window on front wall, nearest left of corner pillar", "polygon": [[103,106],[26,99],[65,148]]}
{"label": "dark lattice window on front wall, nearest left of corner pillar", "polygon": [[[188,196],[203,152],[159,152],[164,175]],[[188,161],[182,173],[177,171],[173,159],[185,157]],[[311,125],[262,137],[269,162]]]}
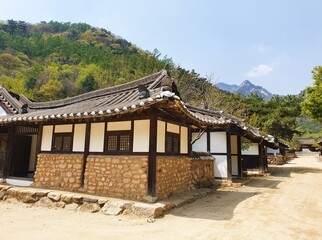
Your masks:
{"label": "dark lattice window on front wall, nearest left of corner pillar", "polygon": [[131,131],[108,131],[106,136],[106,152],[131,152]]}

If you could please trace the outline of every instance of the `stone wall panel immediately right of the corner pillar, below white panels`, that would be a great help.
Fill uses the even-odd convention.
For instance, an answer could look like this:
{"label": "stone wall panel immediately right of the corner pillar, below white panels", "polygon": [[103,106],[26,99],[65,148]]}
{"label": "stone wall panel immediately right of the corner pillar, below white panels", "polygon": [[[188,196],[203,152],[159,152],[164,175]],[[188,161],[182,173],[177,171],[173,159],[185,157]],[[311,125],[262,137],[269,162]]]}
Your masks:
{"label": "stone wall panel immediately right of the corner pillar, below white panels", "polygon": [[156,195],[165,199],[191,189],[191,159],[186,156],[157,156]]}

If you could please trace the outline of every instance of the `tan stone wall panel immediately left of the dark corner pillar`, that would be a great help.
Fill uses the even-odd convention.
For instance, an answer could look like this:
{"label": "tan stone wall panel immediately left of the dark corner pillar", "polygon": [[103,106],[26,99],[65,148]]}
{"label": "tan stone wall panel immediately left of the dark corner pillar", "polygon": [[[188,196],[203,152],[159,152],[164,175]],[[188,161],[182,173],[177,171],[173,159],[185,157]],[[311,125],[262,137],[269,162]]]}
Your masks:
{"label": "tan stone wall panel immediately left of the dark corner pillar", "polygon": [[89,155],[84,190],[88,193],[133,200],[148,195],[147,156]]}

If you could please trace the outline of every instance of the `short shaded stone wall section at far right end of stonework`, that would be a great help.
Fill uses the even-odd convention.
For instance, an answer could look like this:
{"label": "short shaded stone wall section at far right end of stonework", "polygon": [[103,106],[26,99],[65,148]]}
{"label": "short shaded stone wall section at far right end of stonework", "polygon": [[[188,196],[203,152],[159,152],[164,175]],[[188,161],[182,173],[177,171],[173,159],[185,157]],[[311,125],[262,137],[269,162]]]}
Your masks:
{"label": "short shaded stone wall section at far right end of stonework", "polygon": [[196,187],[211,187],[214,181],[214,161],[208,159],[191,160],[192,184]]}

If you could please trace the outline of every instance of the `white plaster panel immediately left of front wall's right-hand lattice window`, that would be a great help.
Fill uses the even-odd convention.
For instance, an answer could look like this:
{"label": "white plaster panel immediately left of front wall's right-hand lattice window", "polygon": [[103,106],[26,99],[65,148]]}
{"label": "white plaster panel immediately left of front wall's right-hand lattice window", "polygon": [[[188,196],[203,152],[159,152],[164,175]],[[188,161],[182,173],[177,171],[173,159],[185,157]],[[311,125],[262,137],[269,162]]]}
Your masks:
{"label": "white plaster panel immediately left of front wall's right-hand lattice window", "polygon": [[103,152],[105,123],[92,123],[89,141],[90,152]]}

